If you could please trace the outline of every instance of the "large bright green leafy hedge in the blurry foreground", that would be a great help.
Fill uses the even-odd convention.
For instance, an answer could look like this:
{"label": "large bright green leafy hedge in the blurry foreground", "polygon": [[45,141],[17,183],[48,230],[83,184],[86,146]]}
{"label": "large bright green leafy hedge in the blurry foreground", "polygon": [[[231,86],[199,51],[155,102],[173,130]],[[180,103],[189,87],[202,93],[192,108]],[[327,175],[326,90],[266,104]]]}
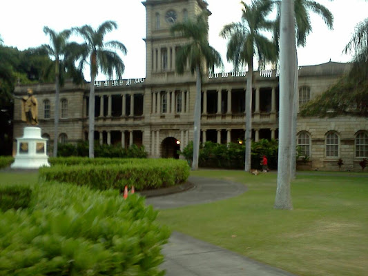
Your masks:
{"label": "large bright green leafy hedge in the blurry foreground", "polygon": [[170,235],[144,199],[43,183],[25,210],[0,212],[0,275],[164,275]]}

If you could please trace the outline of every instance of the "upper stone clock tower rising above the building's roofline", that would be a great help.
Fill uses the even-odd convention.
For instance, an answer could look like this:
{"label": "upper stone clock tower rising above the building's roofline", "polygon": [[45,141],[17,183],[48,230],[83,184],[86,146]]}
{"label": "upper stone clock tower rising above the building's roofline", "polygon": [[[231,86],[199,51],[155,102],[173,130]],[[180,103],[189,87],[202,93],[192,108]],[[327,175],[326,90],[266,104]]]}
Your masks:
{"label": "upper stone clock tower rising above the building's roofline", "polygon": [[206,10],[203,0],[146,0],[146,79],[175,77],[175,55],[188,41],[173,37],[173,23],[184,22]]}

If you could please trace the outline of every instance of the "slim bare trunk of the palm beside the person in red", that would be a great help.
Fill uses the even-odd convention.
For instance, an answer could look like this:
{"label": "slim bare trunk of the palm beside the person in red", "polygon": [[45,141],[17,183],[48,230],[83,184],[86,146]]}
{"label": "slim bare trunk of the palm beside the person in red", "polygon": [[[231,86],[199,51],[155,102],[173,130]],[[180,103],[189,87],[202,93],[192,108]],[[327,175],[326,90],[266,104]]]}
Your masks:
{"label": "slim bare trunk of the palm beside the person in red", "polygon": [[245,166],[244,171],[251,170],[251,149],[252,149],[252,81],[253,81],[253,60],[248,63],[248,77],[246,77],[245,91]]}

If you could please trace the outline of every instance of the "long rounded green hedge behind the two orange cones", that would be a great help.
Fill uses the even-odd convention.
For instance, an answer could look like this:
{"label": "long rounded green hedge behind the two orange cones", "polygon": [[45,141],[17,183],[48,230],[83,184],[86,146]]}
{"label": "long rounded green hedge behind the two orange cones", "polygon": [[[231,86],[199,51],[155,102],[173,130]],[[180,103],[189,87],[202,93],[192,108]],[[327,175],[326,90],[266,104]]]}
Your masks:
{"label": "long rounded green hedge behind the two orange cones", "polygon": [[[74,158],[69,161],[65,164],[75,166],[39,168],[39,177],[99,190],[114,188],[122,192],[124,186],[134,186],[138,191],[175,186],[186,182],[190,173],[186,161],[175,159],[109,159],[110,163],[106,164],[103,159]],[[86,161],[86,164],[78,161]]]}

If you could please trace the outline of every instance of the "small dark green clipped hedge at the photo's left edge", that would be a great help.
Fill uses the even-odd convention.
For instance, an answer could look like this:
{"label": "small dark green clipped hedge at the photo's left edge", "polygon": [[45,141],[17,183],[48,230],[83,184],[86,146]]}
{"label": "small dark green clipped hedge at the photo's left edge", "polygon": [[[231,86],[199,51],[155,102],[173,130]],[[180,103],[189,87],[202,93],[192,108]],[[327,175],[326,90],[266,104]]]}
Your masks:
{"label": "small dark green clipped hedge at the photo's left edge", "polygon": [[0,186],[0,211],[27,208],[30,204],[32,190],[24,185]]}

